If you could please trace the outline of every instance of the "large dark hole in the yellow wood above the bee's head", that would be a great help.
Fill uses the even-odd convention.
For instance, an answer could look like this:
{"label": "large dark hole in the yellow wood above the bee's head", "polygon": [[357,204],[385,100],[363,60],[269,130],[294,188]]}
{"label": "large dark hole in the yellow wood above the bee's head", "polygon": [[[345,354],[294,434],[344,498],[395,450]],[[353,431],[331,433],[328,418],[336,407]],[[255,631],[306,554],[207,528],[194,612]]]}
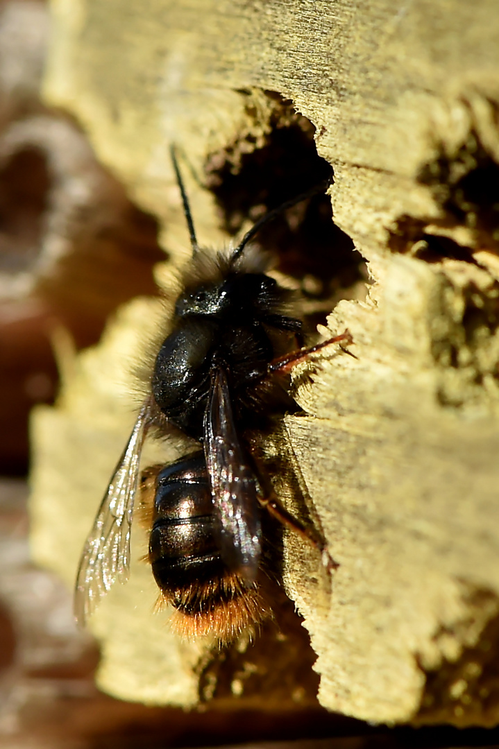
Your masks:
{"label": "large dark hole in the yellow wood above the bee's head", "polygon": [[[223,228],[233,236],[247,228],[248,220],[255,222],[332,176],[330,165],[317,154],[315,127],[294,113],[290,102],[279,105],[263,146],[238,142],[208,161],[207,184],[220,206]],[[255,243],[277,258],[278,269],[297,279],[309,299],[330,300],[365,279],[363,258],[334,223],[325,194],[285,210],[258,232]]]}

